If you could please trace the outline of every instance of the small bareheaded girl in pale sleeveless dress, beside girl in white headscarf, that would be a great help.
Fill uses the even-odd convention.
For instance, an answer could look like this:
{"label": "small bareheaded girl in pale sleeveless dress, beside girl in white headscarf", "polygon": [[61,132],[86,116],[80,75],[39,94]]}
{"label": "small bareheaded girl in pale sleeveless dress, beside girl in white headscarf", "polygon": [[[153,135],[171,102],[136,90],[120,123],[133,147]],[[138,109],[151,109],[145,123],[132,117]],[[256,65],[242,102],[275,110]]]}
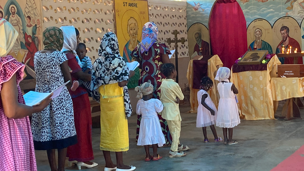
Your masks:
{"label": "small bareheaded girl in pale sleeveless dress, beside girl in white headscarf", "polygon": [[198,108],[196,117],[196,127],[203,128],[204,142],[209,142],[207,138],[207,126],[210,126],[214,136],[215,142],[222,142],[223,140],[217,136],[214,125],[216,124],[217,110],[211,100],[208,90],[213,86],[213,82],[209,77],[201,79],[200,90],[197,92]]}

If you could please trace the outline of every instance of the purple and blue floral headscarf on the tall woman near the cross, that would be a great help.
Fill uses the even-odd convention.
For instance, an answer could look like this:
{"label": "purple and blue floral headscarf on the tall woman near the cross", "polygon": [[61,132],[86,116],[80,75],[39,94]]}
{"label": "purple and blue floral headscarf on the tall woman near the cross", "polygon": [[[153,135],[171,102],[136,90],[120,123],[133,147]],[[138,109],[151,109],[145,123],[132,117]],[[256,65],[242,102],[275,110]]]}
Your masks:
{"label": "purple and blue floral headscarf on the tall woman near the cross", "polygon": [[153,43],[157,41],[158,28],[154,22],[147,22],[143,26],[141,42],[140,42],[140,53],[144,51],[148,52]]}

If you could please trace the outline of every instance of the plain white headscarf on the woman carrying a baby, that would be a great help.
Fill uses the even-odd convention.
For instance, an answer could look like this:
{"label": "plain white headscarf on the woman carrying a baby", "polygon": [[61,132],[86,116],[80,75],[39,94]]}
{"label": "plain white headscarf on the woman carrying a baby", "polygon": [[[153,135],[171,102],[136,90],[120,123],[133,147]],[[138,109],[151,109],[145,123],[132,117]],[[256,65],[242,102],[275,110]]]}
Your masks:
{"label": "plain white headscarf on the woman carrying a baby", "polygon": [[63,48],[61,52],[70,50],[73,51],[73,54],[76,56],[77,63],[82,67],[81,61],[76,53],[77,47],[77,38],[76,31],[74,26],[61,26],[60,29],[63,32]]}

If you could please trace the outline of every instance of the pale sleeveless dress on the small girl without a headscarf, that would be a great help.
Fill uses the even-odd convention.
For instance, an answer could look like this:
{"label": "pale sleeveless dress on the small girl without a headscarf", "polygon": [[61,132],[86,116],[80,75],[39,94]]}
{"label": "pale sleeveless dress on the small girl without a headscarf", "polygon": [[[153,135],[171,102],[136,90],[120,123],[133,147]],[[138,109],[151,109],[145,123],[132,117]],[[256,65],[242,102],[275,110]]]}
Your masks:
{"label": "pale sleeveless dress on the small girl without a headscarf", "polygon": [[[211,115],[210,111],[204,107],[201,103],[202,95],[207,94],[207,98],[205,99],[205,103],[215,112],[215,116]],[[197,107],[197,116],[196,116],[196,127],[206,127],[216,124],[216,116],[217,110],[216,106],[212,102],[210,95],[205,90],[200,90],[197,92],[197,100],[198,100],[198,107]]]}

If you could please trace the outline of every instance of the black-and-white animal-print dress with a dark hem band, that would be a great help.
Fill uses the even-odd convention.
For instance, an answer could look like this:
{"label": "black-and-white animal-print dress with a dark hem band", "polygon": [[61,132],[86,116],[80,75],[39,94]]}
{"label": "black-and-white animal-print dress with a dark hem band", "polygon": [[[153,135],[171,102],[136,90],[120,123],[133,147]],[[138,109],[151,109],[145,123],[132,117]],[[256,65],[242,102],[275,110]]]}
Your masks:
{"label": "black-and-white animal-print dress with a dark hem band", "polygon": [[[54,51],[34,56],[36,92],[50,93],[62,84],[64,77],[60,64],[67,61],[64,53]],[[73,102],[66,87],[42,112],[32,116],[35,150],[62,149],[77,142]]]}

